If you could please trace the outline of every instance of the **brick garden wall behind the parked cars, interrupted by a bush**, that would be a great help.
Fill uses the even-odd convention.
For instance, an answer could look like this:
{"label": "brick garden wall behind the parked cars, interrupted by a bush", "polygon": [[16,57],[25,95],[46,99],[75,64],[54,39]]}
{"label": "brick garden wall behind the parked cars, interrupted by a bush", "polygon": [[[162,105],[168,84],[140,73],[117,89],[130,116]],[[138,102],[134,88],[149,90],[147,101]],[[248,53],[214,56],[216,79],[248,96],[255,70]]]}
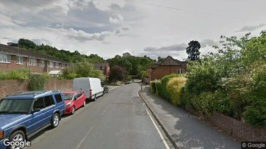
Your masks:
{"label": "brick garden wall behind the parked cars, interrupted by a bush", "polygon": [[[44,89],[60,89],[62,91],[72,90],[73,80],[48,79]],[[29,80],[19,81],[15,79],[0,80],[0,98],[19,91],[28,91]]]}

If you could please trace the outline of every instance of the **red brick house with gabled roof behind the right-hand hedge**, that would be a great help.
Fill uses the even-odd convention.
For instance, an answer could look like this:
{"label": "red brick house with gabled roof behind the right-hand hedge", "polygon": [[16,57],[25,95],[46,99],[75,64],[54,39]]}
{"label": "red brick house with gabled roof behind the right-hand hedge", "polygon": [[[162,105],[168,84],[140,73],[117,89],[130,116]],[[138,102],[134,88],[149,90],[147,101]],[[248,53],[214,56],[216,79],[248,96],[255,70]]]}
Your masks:
{"label": "red brick house with gabled roof behind the right-hand hedge", "polygon": [[146,68],[149,81],[161,79],[164,75],[168,74],[183,74],[186,73],[185,61],[178,61],[168,56],[161,63],[153,63]]}

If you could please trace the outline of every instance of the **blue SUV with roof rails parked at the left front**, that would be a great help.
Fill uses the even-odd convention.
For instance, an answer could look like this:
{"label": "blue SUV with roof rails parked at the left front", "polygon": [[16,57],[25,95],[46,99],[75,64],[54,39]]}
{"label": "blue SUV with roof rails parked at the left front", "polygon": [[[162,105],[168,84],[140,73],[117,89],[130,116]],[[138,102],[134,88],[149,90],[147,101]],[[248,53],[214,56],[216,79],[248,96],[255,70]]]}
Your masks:
{"label": "blue SUV with roof rails parked at the left front", "polygon": [[[24,141],[48,126],[56,128],[65,104],[60,90],[27,91],[0,100],[0,149],[3,141]],[[12,147],[13,148],[13,147]]]}

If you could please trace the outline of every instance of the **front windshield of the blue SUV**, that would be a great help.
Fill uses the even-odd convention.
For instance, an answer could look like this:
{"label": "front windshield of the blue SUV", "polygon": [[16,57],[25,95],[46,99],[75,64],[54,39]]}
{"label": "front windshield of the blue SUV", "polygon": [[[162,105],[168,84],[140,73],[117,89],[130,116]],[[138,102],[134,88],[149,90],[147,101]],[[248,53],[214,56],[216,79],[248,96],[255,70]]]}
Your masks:
{"label": "front windshield of the blue SUV", "polygon": [[0,113],[28,113],[32,99],[0,100]]}

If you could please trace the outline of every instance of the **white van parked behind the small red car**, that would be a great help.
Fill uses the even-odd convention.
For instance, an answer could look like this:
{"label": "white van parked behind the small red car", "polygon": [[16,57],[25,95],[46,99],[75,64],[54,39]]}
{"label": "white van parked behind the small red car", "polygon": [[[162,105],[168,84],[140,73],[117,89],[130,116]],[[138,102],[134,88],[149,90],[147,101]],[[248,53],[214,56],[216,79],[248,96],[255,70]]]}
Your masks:
{"label": "white van parked behind the small red car", "polygon": [[101,80],[94,77],[74,78],[73,90],[83,91],[86,99],[93,99],[93,101],[95,101],[98,96],[104,95],[104,88]]}

